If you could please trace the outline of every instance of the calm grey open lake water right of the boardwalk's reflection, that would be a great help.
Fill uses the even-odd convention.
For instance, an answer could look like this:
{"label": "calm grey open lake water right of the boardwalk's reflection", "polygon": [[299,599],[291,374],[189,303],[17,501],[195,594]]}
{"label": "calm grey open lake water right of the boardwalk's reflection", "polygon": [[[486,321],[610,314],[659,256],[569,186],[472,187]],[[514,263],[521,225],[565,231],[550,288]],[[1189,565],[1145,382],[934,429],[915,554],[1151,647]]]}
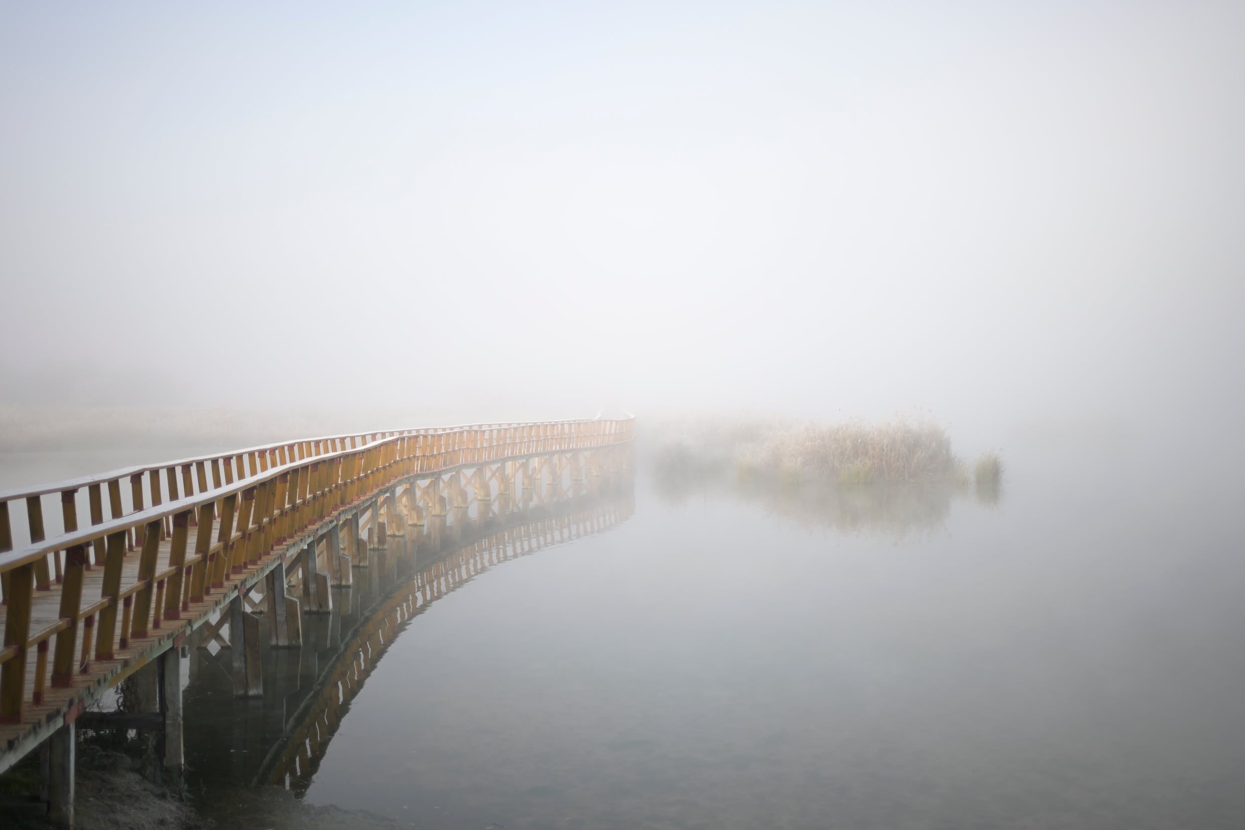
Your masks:
{"label": "calm grey open lake water right of the boardwalk's reflection", "polygon": [[269,793],[263,826],[1245,826],[1239,488],[1011,462],[996,505],[641,472],[626,520],[387,609],[286,779],[304,813],[239,786],[274,702],[192,687],[195,801],[228,825]]}

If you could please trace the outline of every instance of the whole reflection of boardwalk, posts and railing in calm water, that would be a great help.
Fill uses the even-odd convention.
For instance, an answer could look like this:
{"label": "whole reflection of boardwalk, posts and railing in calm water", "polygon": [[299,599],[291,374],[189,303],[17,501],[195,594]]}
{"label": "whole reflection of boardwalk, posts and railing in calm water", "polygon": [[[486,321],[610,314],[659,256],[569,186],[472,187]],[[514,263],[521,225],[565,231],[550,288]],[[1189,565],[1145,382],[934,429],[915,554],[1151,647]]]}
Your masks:
{"label": "whole reflection of boardwalk, posts and railing in calm water", "polygon": [[354,585],[334,589],[332,612],[304,618],[301,650],[265,651],[264,674],[273,682],[261,701],[234,698],[224,661],[192,650],[192,778],[279,784],[301,795],[351,702],[412,617],[494,565],[609,530],[634,510],[625,472],[601,477],[595,494],[574,495],[585,489],[574,485],[542,489],[523,499],[528,508],[498,514],[471,505],[451,521],[430,518],[427,526],[407,525],[402,536],[372,546]]}

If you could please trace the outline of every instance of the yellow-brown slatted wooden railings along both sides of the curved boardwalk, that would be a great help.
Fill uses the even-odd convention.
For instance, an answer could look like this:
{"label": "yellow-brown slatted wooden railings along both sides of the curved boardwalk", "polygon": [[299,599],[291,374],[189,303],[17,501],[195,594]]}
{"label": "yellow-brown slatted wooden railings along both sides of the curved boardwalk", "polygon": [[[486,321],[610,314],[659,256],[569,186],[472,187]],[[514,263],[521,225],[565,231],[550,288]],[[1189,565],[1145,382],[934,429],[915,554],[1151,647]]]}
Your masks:
{"label": "yellow-brown slatted wooden railings along both sides of the curved boardwalk", "polygon": [[[0,493],[0,724],[20,723],[27,701],[73,686],[92,658],[178,620],[294,538],[392,482],[530,454],[594,449],[631,439],[632,421],[550,421],[405,429],[295,441]],[[210,479],[209,479],[210,475]],[[122,479],[129,478],[129,504]],[[146,488],[143,487],[146,482]],[[86,489],[90,528],[80,529]],[[103,518],[103,493],[110,518]],[[62,533],[45,538],[42,499],[60,495]],[[167,494],[167,501],[162,495]],[[29,540],[12,549],[9,504],[26,503]],[[128,508],[128,509],[127,509]],[[167,546],[167,557],[159,555]],[[126,554],[137,570],[123,579]],[[167,566],[157,570],[159,560]],[[133,560],[131,560],[133,561]],[[82,605],[86,571],[102,567],[100,599]],[[59,592],[59,613],[32,631],[40,591]],[[51,601],[51,597],[49,597]],[[46,605],[46,604],[40,604]],[[118,615],[121,617],[118,625]],[[30,666],[34,652],[34,666]],[[27,673],[34,673],[26,691]]]}

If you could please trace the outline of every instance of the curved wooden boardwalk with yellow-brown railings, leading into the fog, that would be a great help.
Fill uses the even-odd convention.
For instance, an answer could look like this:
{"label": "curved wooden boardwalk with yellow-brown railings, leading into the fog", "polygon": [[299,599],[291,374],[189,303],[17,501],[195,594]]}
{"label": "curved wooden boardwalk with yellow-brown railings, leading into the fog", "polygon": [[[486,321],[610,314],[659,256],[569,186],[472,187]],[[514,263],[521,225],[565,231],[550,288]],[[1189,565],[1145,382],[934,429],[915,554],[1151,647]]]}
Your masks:
{"label": "curved wooden boardwalk with yellow-brown railings, leading into the fog", "polygon": [[[545,465],[591,475],[632,427],[598,418],[335,436],[0,493],[0,772],[269,574],[281,582],[269,612],[291,585],[312,607],[327,602],[386,524],[464,510],[468,489],[486,509],[504,503]],[[45,538],[51,499],[61,526]],[[14,549],[9,508],[20,501],[27,541]]]}

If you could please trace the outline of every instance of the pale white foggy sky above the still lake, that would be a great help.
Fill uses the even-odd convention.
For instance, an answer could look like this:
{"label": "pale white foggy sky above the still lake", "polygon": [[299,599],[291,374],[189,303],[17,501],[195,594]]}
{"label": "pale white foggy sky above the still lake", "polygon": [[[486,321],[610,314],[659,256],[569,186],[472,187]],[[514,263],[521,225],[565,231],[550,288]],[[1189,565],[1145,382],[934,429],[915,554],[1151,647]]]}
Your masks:
{"label": "pale white foggy sky above the still lake", "polygon": [[5,2],[0,403],[1235,419],[1243,36],[1240,2]]}

